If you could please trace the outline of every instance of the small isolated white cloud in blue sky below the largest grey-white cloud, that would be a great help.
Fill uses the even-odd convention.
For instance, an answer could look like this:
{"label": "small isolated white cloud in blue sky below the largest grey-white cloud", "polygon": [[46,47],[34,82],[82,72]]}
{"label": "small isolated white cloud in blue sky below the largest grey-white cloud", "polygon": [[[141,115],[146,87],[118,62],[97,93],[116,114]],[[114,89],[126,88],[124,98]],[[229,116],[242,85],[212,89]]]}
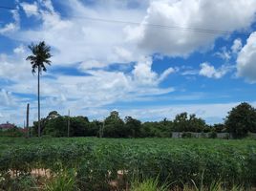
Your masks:
{"label": "small isolated white cloud in blue sky below the largest grey-white cloud", "polygon": [[204,62],[200,65],[201,70],[199,72],[200,75],[209,77],[209,78],[221,78],[224,76],[224,74],[228,73],[232,67],[231,66],[227,66],[227,65],[223,65],[221,68],[219,69],[215,69],[214,66],[210,65],[207,62]]}

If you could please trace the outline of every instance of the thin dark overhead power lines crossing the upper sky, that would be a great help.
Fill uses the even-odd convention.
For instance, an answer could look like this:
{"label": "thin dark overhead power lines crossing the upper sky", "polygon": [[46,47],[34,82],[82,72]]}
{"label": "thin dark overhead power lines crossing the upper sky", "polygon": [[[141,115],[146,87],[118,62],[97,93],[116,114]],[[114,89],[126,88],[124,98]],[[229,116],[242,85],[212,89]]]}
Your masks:
{"label": "thin dark overhead power lines crossing the upper sky", "polygon": [[[4,10],[11,10],[11,11],[18,11],[17,8],[11,8],[6,6],[0,6],[0,9]],[[40,13],[39,11],[28,11],[34,13]],[[53,14],[51,12],[44,12],[46,14]],[[71,16],[69,18],[75,19],[86,19],[91,21],[97,22],[105,22],[105,23],[117,23],[117,24],[129,24],[129,25],[143,25],[147,27],[163,29],[163,30],[175,30],[175,31],[183,31],[183,32],[202,32],[202,33],[210,33],[210,34],[236,34],[236,35],[251,35],[250,32],[231,32],[231,31],[222,31],[222,30],[213,30],[213,29],[203,29],[203,28],[192,28],[192,27],[181,27],[181,26],[167,26],[167,25],[160,25],[154,23],[139,23],[139,22],[132,22],[132,21],[122,21],[122,20],[115,20],[115,19],[105,19],[105,18],[95,18],[95,17],[87,17],[87,16]],[[254,34],[252,34],[254,35]]]}

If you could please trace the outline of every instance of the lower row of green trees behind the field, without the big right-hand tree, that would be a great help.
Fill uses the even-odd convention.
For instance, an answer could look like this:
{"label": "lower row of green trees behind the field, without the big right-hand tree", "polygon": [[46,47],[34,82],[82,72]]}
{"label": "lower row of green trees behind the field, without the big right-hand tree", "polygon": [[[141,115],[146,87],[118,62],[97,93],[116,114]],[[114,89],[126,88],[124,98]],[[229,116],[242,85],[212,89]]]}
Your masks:
{"label": "lower row of green trees behind the field, without the big right-hand tree", "polygon": [[[103,138],[170,138],[173,131],[209,132],[214,131],[202,118],[186,113],[178,115],[174,121],[164,118],[161,121],[142,123],[134,117],[119,117],[117,111],[110,113],[104,121],[89,121],[88,117],[62,117],[56,111],[41,119],[41,134],[51,137],[68,136],[68,120],[71,137]],[[32,127],[37,132],[37,122]]]}

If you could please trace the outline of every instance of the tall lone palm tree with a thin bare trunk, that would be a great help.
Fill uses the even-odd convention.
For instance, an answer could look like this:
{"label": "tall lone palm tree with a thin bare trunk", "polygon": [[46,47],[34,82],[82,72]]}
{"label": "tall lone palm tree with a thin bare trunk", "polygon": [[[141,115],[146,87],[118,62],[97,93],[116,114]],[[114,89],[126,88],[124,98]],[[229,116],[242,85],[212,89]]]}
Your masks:
{"label": "tall lone palm tree with a thin bare trunk", "polygon": [[32,74],[37,72],[37,93],[38,93],[38,138],[41,134],[40,128],[40,74],[46,72],[45,64],[51,65],[52,57],[51,47],[47,46],[44,41],[39,42],[37,45],[33,43],[29,46],[29,49],[32,51],[32,55],[29,55],[26,60],[30,60],[32,64]]}

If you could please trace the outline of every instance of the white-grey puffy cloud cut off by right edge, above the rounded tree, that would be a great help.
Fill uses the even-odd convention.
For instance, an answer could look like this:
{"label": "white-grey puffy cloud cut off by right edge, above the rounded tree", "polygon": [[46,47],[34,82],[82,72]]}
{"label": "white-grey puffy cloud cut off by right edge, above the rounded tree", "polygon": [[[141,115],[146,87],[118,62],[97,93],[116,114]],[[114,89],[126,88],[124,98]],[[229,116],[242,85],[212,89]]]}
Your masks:
{"label": "white-grey puffy cloud cut off by right edge, above the rounded tree", "polygon": [[245,46],[238,53],[237,75],[245,77],[251,83],[256,82],[256,32],[248,37]]}

